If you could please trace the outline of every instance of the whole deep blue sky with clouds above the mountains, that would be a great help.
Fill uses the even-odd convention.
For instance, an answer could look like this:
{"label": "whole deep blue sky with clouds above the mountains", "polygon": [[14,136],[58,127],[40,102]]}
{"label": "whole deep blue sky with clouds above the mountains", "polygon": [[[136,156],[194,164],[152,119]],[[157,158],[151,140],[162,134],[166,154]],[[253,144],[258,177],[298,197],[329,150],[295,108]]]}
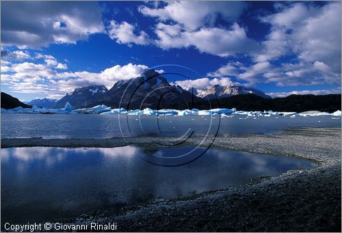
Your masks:
{"label": "whole deep blue sky with clouds above the mountains", "polygon": [[62,98],[147,68],[185,89],[340,94],[341,2],[1,1],[1,92]]}

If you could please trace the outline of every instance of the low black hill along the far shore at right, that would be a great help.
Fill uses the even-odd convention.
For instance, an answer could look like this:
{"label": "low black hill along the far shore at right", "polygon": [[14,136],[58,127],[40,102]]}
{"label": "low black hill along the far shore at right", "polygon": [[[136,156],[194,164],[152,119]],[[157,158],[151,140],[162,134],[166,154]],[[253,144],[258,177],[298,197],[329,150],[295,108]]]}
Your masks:
{"label": "low black hill along the far shore at right", "polygon": [[341,110],[341,94],[328,94],[324,96],[315,95],[291,95],[285,98],[262,98],[255,94],[241,94],[211,100],[211,107],[208,100],[196,102],[198,109],[235,107],[242,111],[326,111],[332,113]]}

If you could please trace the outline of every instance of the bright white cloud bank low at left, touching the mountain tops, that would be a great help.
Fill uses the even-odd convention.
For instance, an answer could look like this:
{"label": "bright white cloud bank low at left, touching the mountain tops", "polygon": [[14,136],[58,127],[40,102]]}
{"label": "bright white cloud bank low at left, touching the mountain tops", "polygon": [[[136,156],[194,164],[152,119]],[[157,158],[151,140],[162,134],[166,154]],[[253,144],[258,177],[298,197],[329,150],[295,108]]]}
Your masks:
{"label": "bright white cloud bank low at left, touching the mountain tops", "polygon": [[[119,80],[138,77],[148,66],[139,64],[116,65],[102,72],[68,72],[66,64],[61,64],[51,55],[38,54],[37,59],[45,59],[42,64],[23,62],[1,66],[1,85],[12,92],[37,94],[49,98],[61,98],[77,87],[105,85],[111,88]],[[46,61],[48,57],[49,61]],[[163,70],[159,70],[163,72]]]}

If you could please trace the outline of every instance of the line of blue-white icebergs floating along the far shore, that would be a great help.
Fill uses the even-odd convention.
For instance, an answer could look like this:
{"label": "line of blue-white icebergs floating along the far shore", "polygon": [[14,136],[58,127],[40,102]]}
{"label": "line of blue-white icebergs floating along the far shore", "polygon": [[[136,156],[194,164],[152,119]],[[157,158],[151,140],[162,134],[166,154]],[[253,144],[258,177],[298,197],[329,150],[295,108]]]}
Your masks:
{"label": "line of blue-white icebergs floating along the far shore", "polygon": [[285,112],[285,111],[237,111],[237,109],[209,109],[209,110],[198,110],[198,109],[111,109],[106,105],[97,105],[94,107],[75,109],[66,102],[66,105],[62,109],[46,109],[37,106],[31,108],[16,107],[15,109],[1,109],[1,113],[29,113],[29,114],[100,114],[100,115],[111,115],[111,114],[127,114],[127,115],[221,115],[222,117],[228,117],[229,115],[246,115],[249,117],[257,116],[271,116],[271,115],[290,115],[291,118],[295,118],[295,115],[303,117],[308,116],[319,116],[319,115],[331,115],[334,117],[341,117],[341,111],[335,111],[334,113],[326,113],[321,111],[305,111],[302,113],[296,112]]}

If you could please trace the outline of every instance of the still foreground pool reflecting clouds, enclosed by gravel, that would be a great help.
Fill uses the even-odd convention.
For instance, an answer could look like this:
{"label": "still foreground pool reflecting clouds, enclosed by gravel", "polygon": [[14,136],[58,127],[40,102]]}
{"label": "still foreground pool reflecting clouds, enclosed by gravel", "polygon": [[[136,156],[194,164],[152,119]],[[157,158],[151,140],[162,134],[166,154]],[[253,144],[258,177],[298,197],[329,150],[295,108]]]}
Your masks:
{"label": "still foreground pool reflecting clouds, enclosed by gravel", "polygon": [[151,152],[164,156],[192,149],[1,149],[1,221],[39,222],[94,210],[115,211],[125,204],[184,197],[315,166],[305,159],[218,148],[209,148],[192,163],[179,167],[161,167],[144,160]]}

